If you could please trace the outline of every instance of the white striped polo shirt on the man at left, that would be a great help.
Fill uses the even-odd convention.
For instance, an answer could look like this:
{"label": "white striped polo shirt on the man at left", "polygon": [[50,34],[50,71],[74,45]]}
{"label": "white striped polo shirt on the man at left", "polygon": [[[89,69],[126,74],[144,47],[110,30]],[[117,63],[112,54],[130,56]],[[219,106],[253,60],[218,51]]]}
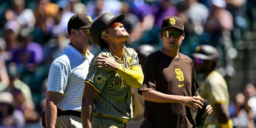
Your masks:
{"label": "white striped polo shirt on the man at left", "polygon": [[51,64],[47,92],[63,94],[57,107],[61,110],[81,111],[84,80],[94,55],[88,52],[88,58],[68,44],[60,56]]}

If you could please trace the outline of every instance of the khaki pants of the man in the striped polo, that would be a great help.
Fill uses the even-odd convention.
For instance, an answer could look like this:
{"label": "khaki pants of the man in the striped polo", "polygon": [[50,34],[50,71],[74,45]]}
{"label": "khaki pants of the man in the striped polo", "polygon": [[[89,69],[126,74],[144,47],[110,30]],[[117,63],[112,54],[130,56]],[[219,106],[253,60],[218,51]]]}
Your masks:
{"label": "khaki pants of the man in the striped polo", "polygon": [[82,128],[81,118],[77,116],[58,116],[56,128]]}

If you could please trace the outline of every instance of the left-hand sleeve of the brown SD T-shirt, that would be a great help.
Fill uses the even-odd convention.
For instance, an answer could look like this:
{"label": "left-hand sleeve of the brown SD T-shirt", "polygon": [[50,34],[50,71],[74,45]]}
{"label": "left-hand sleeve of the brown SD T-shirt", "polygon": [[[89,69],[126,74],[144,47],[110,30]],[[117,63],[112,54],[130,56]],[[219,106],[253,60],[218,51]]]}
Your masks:
{"label": "left-hand sleeve of the brown SD T-shirt", "polygon": [[142,86],[138,90],[140,95],[142,95],[142,91],[155,90],[156,67],[154,61],[151,61],[151,57],[146,58],[142,67],[144,80]]}

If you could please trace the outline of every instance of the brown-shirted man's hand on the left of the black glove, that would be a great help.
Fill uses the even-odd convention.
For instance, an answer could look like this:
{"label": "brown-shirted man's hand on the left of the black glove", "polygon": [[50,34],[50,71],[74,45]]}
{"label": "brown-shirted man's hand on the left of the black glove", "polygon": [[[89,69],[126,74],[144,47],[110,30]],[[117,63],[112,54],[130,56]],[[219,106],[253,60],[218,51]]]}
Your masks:
{"label": "brown-shirted man's hand on the left of the black glove", "polygon": [[195,96],[182,96],[181,97],[181,101],[182,104],[188,107],[191,107],[193,109],[198,110],[198,108],[202,109],[203,103],[201,101],[203,101],[202,98],[199,97],[195,97]]}

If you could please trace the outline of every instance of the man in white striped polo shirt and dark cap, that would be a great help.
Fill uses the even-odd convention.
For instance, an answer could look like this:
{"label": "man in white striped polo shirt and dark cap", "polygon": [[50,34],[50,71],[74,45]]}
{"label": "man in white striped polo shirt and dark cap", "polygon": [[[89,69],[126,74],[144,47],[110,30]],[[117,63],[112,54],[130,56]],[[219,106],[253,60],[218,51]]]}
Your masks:
{"label": "man in white striped polo shirt and dark cap", "polygon": [[[89,53],[93,42],[89,36],[92,18],[75,14],[68,21],[70,43],[51,64],[46,98],[46,127],[82,127],[81,103],[84,79],[94,57]],[[45,117],[45,120],[44,120]]]}

